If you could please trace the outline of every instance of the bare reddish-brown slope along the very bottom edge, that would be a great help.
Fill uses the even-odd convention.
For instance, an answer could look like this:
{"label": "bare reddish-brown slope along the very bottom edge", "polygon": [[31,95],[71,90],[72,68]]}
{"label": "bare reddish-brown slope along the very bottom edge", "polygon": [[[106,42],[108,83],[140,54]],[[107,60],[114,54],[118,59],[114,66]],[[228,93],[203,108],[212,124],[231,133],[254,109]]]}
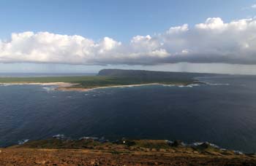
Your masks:
{"label": "bare reddish-brown slope along the very bottom edge", "polygon": [[104,151],[94,149],[0,149],[0,165],[69,165],[69,166],[253,166],[255,158],[188,154],[183,151]]}

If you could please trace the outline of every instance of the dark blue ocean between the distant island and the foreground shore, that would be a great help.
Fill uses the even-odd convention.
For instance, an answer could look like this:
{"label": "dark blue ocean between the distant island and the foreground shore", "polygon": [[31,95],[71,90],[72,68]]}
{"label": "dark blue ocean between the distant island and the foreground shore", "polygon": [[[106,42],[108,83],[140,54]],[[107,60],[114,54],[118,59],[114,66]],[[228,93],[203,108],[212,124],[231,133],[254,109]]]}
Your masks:
{"label": "dark blue ocean between the distant island and the foreground shore", "polygon": [[0,145],[71,138],[208,141],[256,151],[256,76],[197,78],[204,85],[117,87],[89,92],[0,86]]}

